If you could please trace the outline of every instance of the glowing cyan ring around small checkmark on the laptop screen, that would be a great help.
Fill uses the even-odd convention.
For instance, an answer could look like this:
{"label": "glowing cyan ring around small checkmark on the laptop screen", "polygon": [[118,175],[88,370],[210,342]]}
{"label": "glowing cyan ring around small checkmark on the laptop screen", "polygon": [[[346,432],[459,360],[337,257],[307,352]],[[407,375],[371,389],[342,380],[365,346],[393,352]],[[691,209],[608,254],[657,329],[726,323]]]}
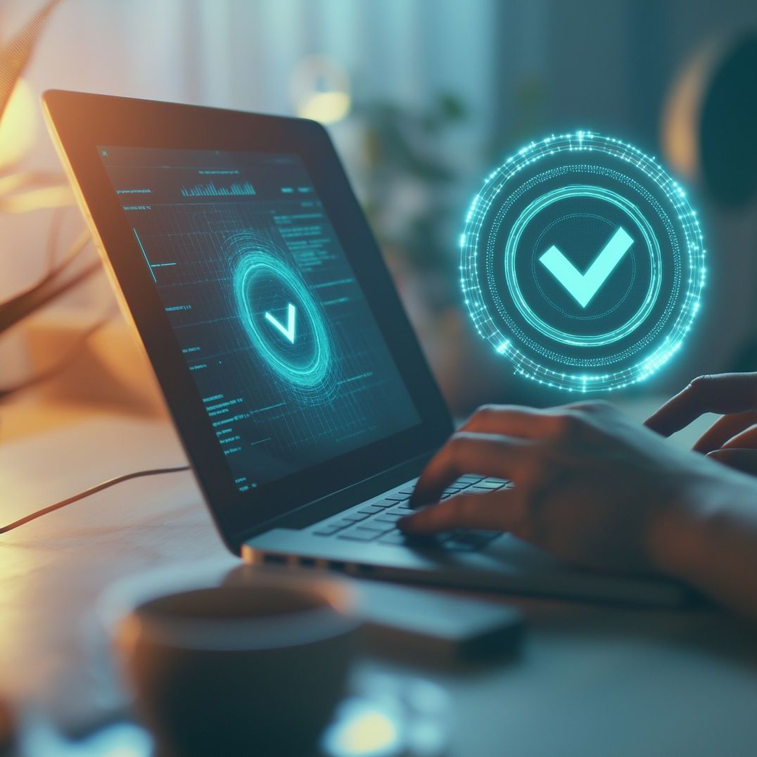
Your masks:
{"label": "glowing cyan ring around small checkmark on the laptop screen", "polygon": [[[255,310],[252,287],[262,276],[279,279],[298,301],[304,316],[313,329],[313,350],[301,365],[288,360],[280,350],[272,346],[269,332],[261,329],[262,319]],[[235,262],[232,274],[234,298],[241,325],[263,360],[285,382],[308,391],[327,388],[332,372],[332,347],[322,315],[307,286],[276,257],[264,249],[244,251]]]}

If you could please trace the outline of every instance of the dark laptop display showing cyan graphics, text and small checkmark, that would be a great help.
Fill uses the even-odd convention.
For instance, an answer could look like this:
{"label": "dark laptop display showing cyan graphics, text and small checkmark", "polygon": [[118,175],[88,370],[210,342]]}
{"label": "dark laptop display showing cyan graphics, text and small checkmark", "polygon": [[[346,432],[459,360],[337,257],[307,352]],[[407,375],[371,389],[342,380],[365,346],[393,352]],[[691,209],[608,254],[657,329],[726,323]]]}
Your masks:
{"label": "dark laptop display showing cyan graphics, text and small checkmark", "polygon": [[298,155],[98,151],[239,491],[419,424]]}

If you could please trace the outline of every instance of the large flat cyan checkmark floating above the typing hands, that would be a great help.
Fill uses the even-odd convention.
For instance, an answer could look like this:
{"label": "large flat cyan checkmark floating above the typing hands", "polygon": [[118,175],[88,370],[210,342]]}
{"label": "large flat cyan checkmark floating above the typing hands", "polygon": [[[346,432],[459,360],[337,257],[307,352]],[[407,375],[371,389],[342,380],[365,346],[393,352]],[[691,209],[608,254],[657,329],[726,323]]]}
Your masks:
{"label": "large flat cyan checkmark floating above the typing hands", "polygon": [[618,226],[584,273],[581,273],[555,245],[552,245],[539,260],[581,307],[587,307],[633,244],[631,235],[622,226]]}

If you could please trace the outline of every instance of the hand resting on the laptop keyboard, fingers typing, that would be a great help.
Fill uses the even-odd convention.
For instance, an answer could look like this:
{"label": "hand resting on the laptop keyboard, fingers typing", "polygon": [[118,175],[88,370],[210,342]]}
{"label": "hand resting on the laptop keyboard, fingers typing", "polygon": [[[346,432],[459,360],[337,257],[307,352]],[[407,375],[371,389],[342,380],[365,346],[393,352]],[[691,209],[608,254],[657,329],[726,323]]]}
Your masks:
{"label": "hand resting on the laptop keyboard, fingers typing", "polygon": [[603,402],[481,408],[428,463],[413,504],[436,502],[466,473],[509,478],[515,487],[457,494],[400,528],[509,531],[572,562],[638,572],[665,570],[668,537],[684,544],[699,497],[718,476],[734,475]]}

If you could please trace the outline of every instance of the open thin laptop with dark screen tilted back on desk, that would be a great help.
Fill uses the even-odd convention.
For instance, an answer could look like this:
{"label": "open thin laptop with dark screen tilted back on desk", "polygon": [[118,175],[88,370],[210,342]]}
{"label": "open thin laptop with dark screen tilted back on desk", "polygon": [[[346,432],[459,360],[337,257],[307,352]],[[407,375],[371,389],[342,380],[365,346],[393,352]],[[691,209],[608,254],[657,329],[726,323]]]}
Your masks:
{"label": "open thin laptop with dark screen tilted back on desk", "polygon": [[[254,564],[671,605],[509,534],[396,528],[453,423],[318,123],[50,91],[45,114],[229,550]],[[444,493],[506,481],[464,475]]]}

